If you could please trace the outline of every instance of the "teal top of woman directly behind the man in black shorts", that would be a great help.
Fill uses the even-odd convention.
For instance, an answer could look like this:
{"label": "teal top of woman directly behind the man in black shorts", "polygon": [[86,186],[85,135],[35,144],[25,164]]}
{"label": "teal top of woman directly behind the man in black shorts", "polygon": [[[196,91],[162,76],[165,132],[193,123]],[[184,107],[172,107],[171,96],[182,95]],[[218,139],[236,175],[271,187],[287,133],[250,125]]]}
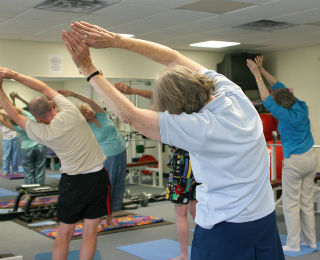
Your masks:
{"label": "teal top of woman directly behind the man in black shorts", "polygon": [[126,149],[122,134],[105,113],[96,113],[96,118],[101,127],[98,127],[95,123],[88,123],[104,155],[114,156],[122,153]]}

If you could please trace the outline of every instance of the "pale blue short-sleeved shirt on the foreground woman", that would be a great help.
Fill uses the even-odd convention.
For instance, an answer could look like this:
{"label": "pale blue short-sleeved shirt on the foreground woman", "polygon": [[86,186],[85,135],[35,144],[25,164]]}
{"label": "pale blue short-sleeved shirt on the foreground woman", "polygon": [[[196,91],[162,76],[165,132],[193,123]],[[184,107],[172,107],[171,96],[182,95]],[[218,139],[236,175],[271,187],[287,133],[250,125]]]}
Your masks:
{"label": "pale blue short-sleeved shirt on the foreground woman", "polygon": [[275,209],[261,119],[241,88],[212,70],[215,99],[198,113],[159,113],[163,143],[189,151],[198,183],[196,223],[248,222]]}

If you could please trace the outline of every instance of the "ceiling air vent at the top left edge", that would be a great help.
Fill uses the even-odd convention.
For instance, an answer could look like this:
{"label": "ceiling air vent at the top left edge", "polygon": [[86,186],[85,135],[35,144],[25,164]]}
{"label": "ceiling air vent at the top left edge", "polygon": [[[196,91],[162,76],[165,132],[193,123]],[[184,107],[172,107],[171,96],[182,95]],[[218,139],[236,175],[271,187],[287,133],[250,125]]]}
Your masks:
{"label": "ceiling air vent at the top left edge", "polygon": [[47,11],[88,14],[117,2],[120,2],[120,0],[46,0],[34,8]]}

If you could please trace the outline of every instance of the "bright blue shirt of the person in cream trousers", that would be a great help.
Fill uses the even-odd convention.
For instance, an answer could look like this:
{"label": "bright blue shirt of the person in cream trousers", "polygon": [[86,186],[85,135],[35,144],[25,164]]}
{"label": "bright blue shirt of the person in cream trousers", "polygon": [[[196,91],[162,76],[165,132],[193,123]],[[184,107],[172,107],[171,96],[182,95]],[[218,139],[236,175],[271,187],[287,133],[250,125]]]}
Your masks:
{"label": "bright blue shirt of the person in cream trousers", "polygon": [[[285,88],[285,85],[277,81],[272,89],[278,88]],[[296,103],[286,109],[279,106],[270,95],[262,104],[279,120],[278,131],[284,158],[289,158],[291,154],[305,153],[313,147],[309,110],[305,102],[296,98]]]}

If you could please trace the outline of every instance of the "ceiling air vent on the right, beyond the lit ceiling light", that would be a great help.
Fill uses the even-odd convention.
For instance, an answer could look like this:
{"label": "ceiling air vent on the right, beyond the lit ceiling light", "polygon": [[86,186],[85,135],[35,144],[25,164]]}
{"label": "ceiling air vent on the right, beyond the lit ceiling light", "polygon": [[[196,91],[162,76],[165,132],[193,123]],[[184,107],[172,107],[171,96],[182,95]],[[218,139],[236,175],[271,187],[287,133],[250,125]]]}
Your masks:
{"label": "ceiling air vent on the right, beyond the lit ceiling light", "polygon": [[292,26],[295,26],[295,24],[270,20],[259,20],[256,22],[245,23],[239,26],[235,26],[235,28],[272,32],[275,30],[285,29]]}

